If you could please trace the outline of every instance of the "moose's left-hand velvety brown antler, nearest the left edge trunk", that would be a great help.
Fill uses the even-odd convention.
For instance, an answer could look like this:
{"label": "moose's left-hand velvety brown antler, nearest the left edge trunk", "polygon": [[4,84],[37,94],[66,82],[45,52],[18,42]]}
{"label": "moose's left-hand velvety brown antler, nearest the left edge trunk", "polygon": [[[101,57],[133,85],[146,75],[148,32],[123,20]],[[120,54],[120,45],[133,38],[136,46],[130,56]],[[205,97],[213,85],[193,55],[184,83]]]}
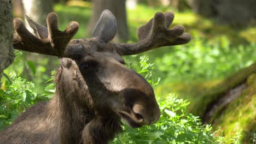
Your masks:
{"label": "moose's left-hand velvety brown antler, nearest the left edge trunk", "polygon": [[[46,18],[48,28],[39,25],[27,16],[26,19],[36,36],[26,29],[21,19],[15,18],[16,34],[14,34],[13,40],[15,49],[51,56],[70,57],[70,50],[66,50],[66,47],[78,31],[79,24],[77,22],[70,22],[65,31],[62,32],[59,31],[58,18],[55,13],[49,13]],[[68,47],[72,47],[72,45]]]}

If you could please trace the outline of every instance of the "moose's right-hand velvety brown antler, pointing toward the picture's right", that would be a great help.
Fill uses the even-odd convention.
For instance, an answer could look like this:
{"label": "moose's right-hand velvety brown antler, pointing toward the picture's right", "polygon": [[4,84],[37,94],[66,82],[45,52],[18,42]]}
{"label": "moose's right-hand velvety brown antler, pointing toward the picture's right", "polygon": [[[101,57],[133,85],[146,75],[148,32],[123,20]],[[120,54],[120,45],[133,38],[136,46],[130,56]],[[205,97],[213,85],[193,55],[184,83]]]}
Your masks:
{"label": "moose's right-hand velvety brown antler, pointing toward the picture's right", "polygon": [[138,29],[139,42],[136,44],[115,44],[120,55],[135,55],[152,50],[160,46],[182,45],[191,40],[189,33],[184,33],[183,26],[175,26],[168,29],[174,18],[174,14],[156,13],[146,25]]}

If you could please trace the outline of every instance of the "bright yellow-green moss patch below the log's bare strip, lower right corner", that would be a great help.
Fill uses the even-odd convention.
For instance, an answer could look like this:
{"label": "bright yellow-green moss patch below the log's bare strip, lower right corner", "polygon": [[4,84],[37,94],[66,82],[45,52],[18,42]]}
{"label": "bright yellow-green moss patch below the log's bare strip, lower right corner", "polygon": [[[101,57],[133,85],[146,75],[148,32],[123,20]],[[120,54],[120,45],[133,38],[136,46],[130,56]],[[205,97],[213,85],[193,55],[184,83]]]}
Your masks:
{"label": "bright yellow-green moss patch below the log's bare strip, lower right corner", "polygon": [[250,135],[256,133],[256,74],[251,74],[246,84],[241,96],[214,120],[213,126],[222,129],[226,143],[231,142],[230,137],[234,137],[236,131],[242,131],[242,143],[251,143]]}

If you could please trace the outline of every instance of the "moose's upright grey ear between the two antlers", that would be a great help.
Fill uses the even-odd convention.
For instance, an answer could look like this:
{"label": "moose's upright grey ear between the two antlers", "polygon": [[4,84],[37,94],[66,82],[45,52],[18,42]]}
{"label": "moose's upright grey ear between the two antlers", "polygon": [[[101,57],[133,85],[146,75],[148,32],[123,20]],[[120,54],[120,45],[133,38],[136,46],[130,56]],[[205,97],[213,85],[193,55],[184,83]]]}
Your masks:
{"label": "moose's upright grey ear between the two antlers", "polygon": [[117,21],[115,20],[115,16],[109,10],[104,10],[100,19],[98,19],[92,36],[108,43],[115,37],[116,33]]}

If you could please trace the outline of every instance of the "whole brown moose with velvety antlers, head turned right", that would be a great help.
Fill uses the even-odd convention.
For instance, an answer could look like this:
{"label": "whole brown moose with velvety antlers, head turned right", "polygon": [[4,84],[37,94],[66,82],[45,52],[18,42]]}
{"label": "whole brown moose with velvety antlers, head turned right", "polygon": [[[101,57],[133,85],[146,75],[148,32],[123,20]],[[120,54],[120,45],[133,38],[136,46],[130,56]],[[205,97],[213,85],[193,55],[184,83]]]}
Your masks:
{"label": "whole brown moose with velvety antlers, head turned right", "polygon": [[0,132],[0,143],[108,143],[122,131],[121,118],[133,128],[158,121],[160,110],[149,83],[124,66],[121,56],[135,55],[160,46],[190,41],[182,26],[168,29],[173,13],[156,13],[138,29],[139,42],[110,42],[117,32],[115,17],[104,10],[93,38],[72,39],[78,23],[65,31],[57,15],[48,14],[47,27],[26,17],[34,34],[21,19],[14,19],[14,47],[57,56],[56,93],[48,102],[32,106]]}

